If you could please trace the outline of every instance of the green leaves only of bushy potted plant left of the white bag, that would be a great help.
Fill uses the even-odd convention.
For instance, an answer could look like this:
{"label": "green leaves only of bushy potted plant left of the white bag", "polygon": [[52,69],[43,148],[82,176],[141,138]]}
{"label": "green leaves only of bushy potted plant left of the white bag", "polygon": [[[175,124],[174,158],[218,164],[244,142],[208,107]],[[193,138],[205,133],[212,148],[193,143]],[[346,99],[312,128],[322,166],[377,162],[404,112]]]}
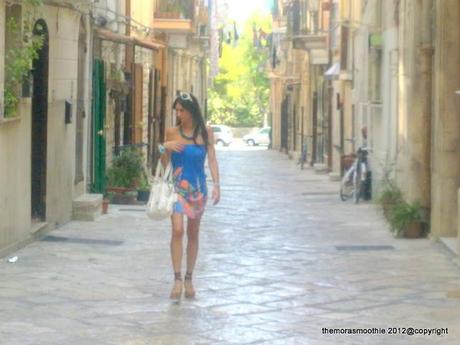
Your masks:
{"label": "green leaves only of bushy potted plant left of the white bag", "polygon": [[142,154],[138,149],[123,150],[114,157],[107,169],[107,181],[110,187],[134,188],[142,179]]}

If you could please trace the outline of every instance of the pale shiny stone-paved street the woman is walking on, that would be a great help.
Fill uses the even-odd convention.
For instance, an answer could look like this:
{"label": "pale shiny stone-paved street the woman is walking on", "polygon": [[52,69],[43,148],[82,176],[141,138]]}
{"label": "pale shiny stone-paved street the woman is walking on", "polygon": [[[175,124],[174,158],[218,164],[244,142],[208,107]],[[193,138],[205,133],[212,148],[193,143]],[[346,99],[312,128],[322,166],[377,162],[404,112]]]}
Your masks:
{"label": "pale shiny stone-paved street the woman is walking on", "polygon": [[[460,343],[460,269],[441,244],[393,238],[374,205],[341,202],[337,182],[279,152],[218,159],[195,300],[168,298],[169,221],[110,205],[1,260],[0,344]],[[323,334],[389,327],[448,334]]]}

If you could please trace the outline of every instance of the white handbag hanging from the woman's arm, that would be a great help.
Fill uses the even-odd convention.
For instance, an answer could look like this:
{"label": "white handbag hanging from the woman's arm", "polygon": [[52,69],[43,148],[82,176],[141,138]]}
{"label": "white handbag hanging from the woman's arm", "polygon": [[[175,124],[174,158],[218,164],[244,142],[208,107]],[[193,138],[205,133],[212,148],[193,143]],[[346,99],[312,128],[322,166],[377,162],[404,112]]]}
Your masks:
{"label": "white handbag hanging from the woman's arm", "polygon": [[171,216],[176,201],[177,194],[174,190],[171,162],[168,163],[165,170],[160,161],[150,190],[147,216],[153,220],[162,220]]}

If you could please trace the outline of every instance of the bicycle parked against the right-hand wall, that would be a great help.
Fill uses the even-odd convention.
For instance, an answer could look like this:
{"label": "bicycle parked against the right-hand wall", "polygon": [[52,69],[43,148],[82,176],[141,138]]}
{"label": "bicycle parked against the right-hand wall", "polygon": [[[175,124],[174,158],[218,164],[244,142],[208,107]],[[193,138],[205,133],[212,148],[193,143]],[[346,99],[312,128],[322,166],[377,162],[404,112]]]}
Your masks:
{"label": "bicycle parked against the right-hand wall", "polygon": [[360,147],[356,158],[343,176],[340,183],[340,199],[342,201],[353,198],[357,204],[363,196],[369,174],[368,154],[369,149],[367,147]]}

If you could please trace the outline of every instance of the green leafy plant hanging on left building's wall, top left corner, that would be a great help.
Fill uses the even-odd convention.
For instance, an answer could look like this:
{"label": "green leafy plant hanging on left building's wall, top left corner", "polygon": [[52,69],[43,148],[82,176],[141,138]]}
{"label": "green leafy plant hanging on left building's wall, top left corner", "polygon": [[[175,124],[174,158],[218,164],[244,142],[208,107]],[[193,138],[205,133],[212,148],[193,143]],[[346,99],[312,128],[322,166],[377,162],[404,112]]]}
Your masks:
{"label": "green leafy plant hanging on left building's wall, top left corner", "polygon": [[19,103],[21,83],[29,76],[32,61],[38,58],[38,51],[43,47],[44,38],[33,34],[35,11],[42,5],[42,0],[27,0],[23,5],[23,20],[18,23],[16,18],[7,18],[6,30],[12,46],[5,52],[5,117],[16,114]]}

